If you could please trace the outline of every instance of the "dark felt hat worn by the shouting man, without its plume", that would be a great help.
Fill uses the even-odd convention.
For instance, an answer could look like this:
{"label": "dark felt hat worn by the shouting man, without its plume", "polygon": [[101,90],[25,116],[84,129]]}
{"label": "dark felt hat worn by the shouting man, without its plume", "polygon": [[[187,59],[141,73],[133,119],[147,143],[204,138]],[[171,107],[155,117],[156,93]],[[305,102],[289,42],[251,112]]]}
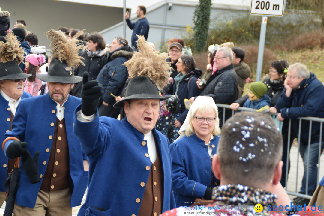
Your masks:
{"label": "dark felt hat worn by the shouting man, without its plume", "polygon": [[171,95],[161,96],[159,90],[147,76],[135,76],[127,86],[125,98],[114,104],[115,108],[123,108],[124,101],[129,99],[160,99],[165,100]]}

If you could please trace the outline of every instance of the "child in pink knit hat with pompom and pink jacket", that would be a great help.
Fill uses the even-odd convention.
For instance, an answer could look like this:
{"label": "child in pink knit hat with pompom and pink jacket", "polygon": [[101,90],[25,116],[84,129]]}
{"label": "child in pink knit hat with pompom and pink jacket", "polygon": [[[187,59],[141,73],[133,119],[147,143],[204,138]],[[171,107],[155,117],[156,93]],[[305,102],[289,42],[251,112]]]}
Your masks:
{"label": "child in pink knit hat with pompom and pink jacket", "polygon": [[36,77],[36,74],[41,73],[40,65],[46,62],[45,56],[42,54],[37,55],[32,53],[27,55],[25,60],[26,74],[32,74],[32,76],[26,79],[24,91],[28,92],[32,96],[37,96],[39,90],[41,89],[42,82]]}

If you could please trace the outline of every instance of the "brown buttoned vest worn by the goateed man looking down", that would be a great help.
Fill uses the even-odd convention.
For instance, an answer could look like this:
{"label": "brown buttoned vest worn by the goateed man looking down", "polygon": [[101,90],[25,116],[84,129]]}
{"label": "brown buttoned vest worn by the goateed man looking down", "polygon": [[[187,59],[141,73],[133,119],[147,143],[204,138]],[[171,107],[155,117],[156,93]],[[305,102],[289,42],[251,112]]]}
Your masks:
{"label": "brown buttoned vest worn by the goateed man looking down", "polygon": [[65,129],[65,119],[56,118],[50,158],[47,162],[41,190],[56,191],[69,187],[69,147]]}

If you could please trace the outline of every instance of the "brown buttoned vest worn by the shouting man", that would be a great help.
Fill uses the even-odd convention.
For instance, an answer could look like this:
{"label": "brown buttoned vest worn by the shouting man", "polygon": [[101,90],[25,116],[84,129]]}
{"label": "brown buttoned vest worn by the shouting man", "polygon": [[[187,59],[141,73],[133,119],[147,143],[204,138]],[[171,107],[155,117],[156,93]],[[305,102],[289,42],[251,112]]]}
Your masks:
{"label": "brown buttoned vest worn by the shouting man", "polygon": [[146,183],[142,204],[138,213],[139,216],[157,216],[162,213],[163,167],[157,144],[155,146],[156,160],[153,164],[151,163],[152,168]]}

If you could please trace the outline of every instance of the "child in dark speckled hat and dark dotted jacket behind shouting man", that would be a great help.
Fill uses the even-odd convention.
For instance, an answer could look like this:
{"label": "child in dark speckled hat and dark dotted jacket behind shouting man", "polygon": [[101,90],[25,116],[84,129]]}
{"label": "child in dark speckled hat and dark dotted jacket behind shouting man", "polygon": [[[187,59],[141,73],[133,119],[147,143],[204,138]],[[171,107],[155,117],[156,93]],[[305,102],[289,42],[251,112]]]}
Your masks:
{"label": "child in dark speckled hat and dark dotted jacket behind shouting man", "polygon": [[161,131],[162,134],[168,137],[170,144],[179,136],[179,129],[174,127],[173,123],[180,115],[180,99],[172,95],[170,98],[164,100],[163,116],[156,124],[156,130]]}

